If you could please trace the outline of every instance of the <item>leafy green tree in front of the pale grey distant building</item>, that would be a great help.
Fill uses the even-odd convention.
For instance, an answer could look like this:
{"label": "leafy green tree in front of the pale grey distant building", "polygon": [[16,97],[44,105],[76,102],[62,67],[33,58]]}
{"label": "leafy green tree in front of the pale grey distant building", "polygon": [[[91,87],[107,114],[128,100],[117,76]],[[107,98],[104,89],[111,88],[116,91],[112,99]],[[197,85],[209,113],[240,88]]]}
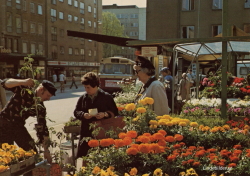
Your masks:
{"label": "leafy green tree in front of the pale grey distant building", "polygon": [[[116,37],[127,37],[124,35],[124,26],[114,13],[102,13],[102,34]],[[114,56],[120,53],[121,47],[108,43],[103,43],[103,58]]]}

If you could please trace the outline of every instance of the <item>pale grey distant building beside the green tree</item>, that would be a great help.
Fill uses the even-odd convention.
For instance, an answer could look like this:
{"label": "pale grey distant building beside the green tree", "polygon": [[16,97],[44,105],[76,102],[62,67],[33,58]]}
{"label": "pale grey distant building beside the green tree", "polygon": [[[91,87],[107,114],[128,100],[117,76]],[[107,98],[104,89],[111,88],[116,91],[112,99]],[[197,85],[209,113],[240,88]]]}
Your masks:
{"label": "pale grey distant building beside the green tree", "polygon": [[[146,40],[146,8],[138,8],[135,5],[117,6],[104,5],[103,11],[114,13],[124,26],[124,35],[129,38]],[[121,47],[120,53],[114,53],[128,59],[135,59],[135,49]]]}

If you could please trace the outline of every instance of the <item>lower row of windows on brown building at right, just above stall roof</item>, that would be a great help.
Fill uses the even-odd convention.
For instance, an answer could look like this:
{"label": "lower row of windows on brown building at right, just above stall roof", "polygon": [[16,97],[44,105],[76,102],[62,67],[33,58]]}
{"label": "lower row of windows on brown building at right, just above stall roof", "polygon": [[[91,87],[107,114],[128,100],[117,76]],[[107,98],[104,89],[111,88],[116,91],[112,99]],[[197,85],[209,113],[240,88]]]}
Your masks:
{"label": "lower row of windows on brown building at right, just above stall roof", "polygon": [[[250,33],[250,24],[244,24],[244,32]],[[212,37],[222,33],[222,25],[212,26]],[[194,38],[194,26],[183,26],[181,38]]]}

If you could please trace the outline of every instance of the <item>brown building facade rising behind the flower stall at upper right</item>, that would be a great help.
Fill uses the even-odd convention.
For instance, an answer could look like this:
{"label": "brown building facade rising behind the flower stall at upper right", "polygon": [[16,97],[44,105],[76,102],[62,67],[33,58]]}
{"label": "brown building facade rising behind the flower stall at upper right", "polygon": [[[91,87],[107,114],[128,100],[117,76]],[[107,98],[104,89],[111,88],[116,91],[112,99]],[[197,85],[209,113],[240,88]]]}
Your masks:
{"label": "brown building facade rising behind the flower stall at upper right", "polygon": [[[147,40],[209,38],[222,32],[223,0],[147,1]],[[250,1],[228,1],[228,27],[250,33]]]}

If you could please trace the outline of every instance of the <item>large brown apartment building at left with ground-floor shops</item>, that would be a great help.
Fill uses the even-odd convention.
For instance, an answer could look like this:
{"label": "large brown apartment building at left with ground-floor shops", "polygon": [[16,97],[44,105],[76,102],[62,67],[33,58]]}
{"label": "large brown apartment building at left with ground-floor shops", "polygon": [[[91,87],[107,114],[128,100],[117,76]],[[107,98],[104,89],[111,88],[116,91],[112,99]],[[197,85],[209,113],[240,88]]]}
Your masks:
{"label": "large brown apartment building at left with ground-floor shops", "polygon": [[1,78],[15,76],[27,54],[41,70],[38,79],[98,72],[102,44],[67,30],[101,33],[101,0],[4,0],[0,9]]}

